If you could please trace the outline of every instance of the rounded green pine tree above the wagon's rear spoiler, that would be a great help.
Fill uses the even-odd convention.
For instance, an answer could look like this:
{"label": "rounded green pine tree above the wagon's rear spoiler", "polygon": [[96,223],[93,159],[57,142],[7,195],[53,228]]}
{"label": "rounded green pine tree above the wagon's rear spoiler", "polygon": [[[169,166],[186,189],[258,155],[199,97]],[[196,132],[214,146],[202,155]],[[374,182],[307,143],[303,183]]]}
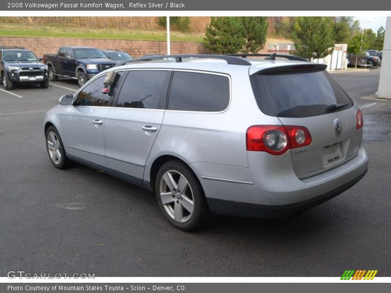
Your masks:
{"label": "rounded green pine tree above the wagon's rear spoiler", "polygon": [[292,39],[295,54],[308,60],[324,58],[334,50],[334,24],[330,17],[296,17]]}

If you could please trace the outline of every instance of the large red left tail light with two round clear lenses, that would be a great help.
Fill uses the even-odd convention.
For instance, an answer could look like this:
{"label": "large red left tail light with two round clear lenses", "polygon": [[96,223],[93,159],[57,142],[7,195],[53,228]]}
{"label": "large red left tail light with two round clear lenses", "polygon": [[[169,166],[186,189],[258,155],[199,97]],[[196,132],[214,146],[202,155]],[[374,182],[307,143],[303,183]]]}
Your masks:
{"label": "large red left tail light with two round clear lenses", "polygon": [[308,146],[311,135],[303,126],[250,126],[246,132],[247,150],[282,155],[288,149]]}

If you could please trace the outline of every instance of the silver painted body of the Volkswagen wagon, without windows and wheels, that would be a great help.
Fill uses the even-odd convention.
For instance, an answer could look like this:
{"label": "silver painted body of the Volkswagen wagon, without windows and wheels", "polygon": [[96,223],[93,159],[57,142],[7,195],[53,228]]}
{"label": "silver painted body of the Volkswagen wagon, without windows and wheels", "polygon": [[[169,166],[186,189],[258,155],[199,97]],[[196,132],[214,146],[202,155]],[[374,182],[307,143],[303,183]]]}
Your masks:
{"label": "silver painted body of the Volkswagen wagon, without windows and wheels", "polygon": [[[249,76],[265,68],[301,63],[269,60],[244,66],[193,60],[114,67],[109,71],[153,69],[226,76],[229,105],[219,112],[58,105],[46,113],[45,129],[49,125],[58,129],[71,160],[107,169],[151,190],[156,164],[177,158],[194,171],[209,208],[217,214],[287,215],[343,192],[368,168],[363,128],[355,127],[357,105],[306,118],[278,118],[261,112]],[[342,125],[340,135],[335,133],[337,120]],[[256,125],[304,126],[312,143],[278,156],[248,151],[246,131]],[[338,160],[330,162],[325,147],[336,144]]]}

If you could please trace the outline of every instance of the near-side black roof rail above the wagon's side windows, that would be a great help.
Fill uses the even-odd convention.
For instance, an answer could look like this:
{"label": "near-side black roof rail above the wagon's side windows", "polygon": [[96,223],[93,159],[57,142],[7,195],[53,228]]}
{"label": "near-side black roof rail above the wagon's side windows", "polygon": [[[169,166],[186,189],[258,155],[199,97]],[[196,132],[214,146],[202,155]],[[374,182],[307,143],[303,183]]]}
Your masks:
{"label": "near-side black roof rail above the wagon's side windows", "polygon": [[134,62],[142,62],[142,61],[159,60],[164,58],[174,58],[175,62],[182,62],[183,58],[213,58],[213,59],[225,60],[228,64],[251,65],[251,63],[248,62],[247,60],[243,60],[235,56],[213,55],[213,54],[153,55],[153,56],[145,56],[145,57],[131,59],[123,63],[119,63],[118,65],[124,65],[124,64],[134,63]]}

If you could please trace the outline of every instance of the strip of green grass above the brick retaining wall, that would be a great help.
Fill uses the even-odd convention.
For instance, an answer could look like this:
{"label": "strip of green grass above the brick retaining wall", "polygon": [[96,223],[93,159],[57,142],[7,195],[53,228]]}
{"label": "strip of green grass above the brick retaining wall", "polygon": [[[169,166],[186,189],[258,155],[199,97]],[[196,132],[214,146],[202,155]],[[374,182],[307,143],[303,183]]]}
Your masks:
{"label": "strip of green grass above the brick retaining wall", "polygon": [[[51,37],[78,39],[110,39],[134,41],[166,41],[166,31],[133,31],[126,29],[83,29],[78,27],[34,26],[2,24],[1,37]],[[203,34],[171,32],[172,42],[202,42]]]}

